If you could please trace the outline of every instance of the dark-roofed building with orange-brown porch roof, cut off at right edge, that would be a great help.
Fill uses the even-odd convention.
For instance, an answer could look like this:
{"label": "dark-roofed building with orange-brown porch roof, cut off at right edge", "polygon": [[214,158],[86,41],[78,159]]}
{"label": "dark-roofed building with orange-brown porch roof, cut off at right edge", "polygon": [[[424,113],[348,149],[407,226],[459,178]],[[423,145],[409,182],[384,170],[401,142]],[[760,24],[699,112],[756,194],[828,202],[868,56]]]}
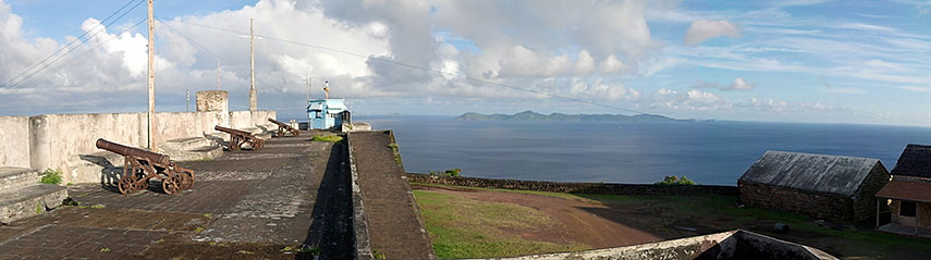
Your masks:
{"label": "dark-roofed building with orange-brown porch roof, cut off at right edge", "polygon": [[878,206],[889,205],[891,215],[881,231],[931,237],[931,146],[906,146],[892,181],[877,197]]}

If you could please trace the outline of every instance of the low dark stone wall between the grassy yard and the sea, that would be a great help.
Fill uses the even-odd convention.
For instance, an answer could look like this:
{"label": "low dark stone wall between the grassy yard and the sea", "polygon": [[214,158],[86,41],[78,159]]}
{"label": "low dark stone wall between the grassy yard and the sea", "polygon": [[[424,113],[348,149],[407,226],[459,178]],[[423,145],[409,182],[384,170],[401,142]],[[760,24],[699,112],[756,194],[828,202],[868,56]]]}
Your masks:
{"label": "low dark stone wall between the grassy yard and the sea", "polygon": [[444,177],[408,173],[411,183],[442,184],[479,188],[505,188],[551,193],[609,194],[609,195],[738,195],[734,186],[716,185],[652,185],[616,183],[555,183],[480,177]]}

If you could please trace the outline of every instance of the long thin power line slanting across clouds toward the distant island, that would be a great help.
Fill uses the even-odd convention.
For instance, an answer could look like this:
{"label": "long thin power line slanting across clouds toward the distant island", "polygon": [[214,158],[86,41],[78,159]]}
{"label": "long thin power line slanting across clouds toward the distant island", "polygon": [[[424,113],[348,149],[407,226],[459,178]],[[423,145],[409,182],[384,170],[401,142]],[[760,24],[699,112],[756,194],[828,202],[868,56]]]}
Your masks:
{"label": "long thin power line slanting across clouds toward the distant island", "polygon": [[[235,29],[229,29],[229,28],[222,28],[222,27],[217,27],[217,26],[210,26],[210,25],[204,25],[204,24],[189,23],[189,22],[184,22],[184,21],[181,21],[181,20],[176,20],[176,22],[184,23],[184,24],[189,24],[189,25],[195,25],[195,26],[200,26],[200,27],[206,27],[206,28],[212,28],[212,29],[223,30],[223,32],[228,32],[228,33],[234,33],[234,34],[246,34],[245,32],[238,32],[238,30],[235,30]],[[485,84],[485,85],[499,86],[499,87],[510,88],[510,89],[514,89],[514,90],[519,90],[519,91],[525,91],[525,92],[537,94],[537,95],[541,95],[541,96],[546,96],[546,97],[550,97],[550,98],[556,98],[556,99],[562,99],[562,100],[567,100],[567,101],[574,101],[574,102],[581,102],[581,103],[587,103],[587,104],[590,104],[590,106],[596,106],[596,107],[601,107],[601,108],[608,108],[608,109],[614,109],[614,110],[620,110],[620,111],[625,111],[625,112],[630,112],[630,113],[649,114],[649,113],[646,113],[646,112],[641,112],[641,111],[637,111],[637,110],[633,110],[633,109],[627,109],[627,108],[622,108],[622,107],[617,107],[617,106],[604,104],[604,103],[599,103],[599,102],[595,102],[595,101],[590,101],[590,100],[585,100],[585,99],[579,99],[579,98],[564,97],[564,96],[560,96],[560,95],[554,95],[554,94],[549,94],[549,92],[540,91],[540,90],[535,90],[535,89],[529,89],[529,88],[523,88],[523,87],[516,87],[516,86],[511,86],[511,85],[501,84],[501,83],[495,83],[495,82],[489,82],[489,81],[485,81],[485,79],[481,79],[481,78],[474,78],[474,77],[470,77],[470,76],[467,76],[467,75],[458,75],[458,74],[453,74],[453,73],[445,73],[445,72],[442,72],[442,71],[440,71],[440,70],[436,70],[436,69],[430,69],[430,67],[420,66],[420,65],[414,65],[414,64],[409,64],[409,63],[404,63],[404,62],[399,62],[399,61],[393,61],[393,60],[388,60],[388,59],[382,59],[382,58],[377,58],[377,57],[369,57],[369,55],[366,55],[366,54],[355,53],[355,52],[345,51],[345,50],[340,50],[340,49],[334,49],[334,48],[324,47],[324,46],[310,45],[310,44],[305,44],[305,42],[299,42],[299,41],[294,41],[294,40],[289,40],[289,39],[274,38],[274,37],[262,36],[262,35],[257,35],[257,36],[260,36],[260,37],[262,37],[262,38],[265,38],[265,39],[269,39],[269,40],[277,40],[277,41],[286,42],[286,44],[292,44],[292,45],[296,45],[296,46],[304,46],[304,47],[309,47],[309,48],[315,48],[315,49],[322,49],[322,50],[328,50],[328,51],[332,51],[332,52],[339,52],[339,53],[343,53],[343,54],[347,54],[347,55],[353,55],[353,57],[358,57],[358,58],[363,58],[363,59],[370,59],[370,60],[375,60],[375,61],[380,61],[380,62],[384,62],[384,63],[389,63],[389,64],[393,64],[393,65],[405,66],[405,67],[415,69],[415,70],[421,70],[421,71],[426,71],[426,72],[439,73],[439,74],[441,74],[441,75],[450,75],[450,76],[453,76],[453,77],[464,78],[464,79],[467,79],[467,81],[471,81],[471,82],[476,82],[476,83],[480,83],[480,84]],[[724,128],[724,129],[733,129],[733,131],[743,131],[743,132],[748,132],[748,131],[746,131],[746,129],[734,128],[734,127],[722,126],[722,125],[714,125],[714,124],[709,124],[709,123],[701,122],[701,121],[691,121],[691,122],[697,123],[697,124],[701,124],[701,125],[707,125],[707,126],[710,126],[710,127],[718,127],[718,128]]]}

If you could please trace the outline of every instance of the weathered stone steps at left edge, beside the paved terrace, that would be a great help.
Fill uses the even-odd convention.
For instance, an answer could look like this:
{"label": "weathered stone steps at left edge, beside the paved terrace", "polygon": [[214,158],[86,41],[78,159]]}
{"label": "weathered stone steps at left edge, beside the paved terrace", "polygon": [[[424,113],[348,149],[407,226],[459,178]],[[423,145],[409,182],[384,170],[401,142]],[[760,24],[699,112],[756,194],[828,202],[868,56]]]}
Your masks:
{"label": "weathered stone steps at left edge, beside the paved terrace", "polygon": [[39,183],[39,174],[32,169],[0,168],[0,222],[41,214],[61,206],[68,198],[68,188]]}

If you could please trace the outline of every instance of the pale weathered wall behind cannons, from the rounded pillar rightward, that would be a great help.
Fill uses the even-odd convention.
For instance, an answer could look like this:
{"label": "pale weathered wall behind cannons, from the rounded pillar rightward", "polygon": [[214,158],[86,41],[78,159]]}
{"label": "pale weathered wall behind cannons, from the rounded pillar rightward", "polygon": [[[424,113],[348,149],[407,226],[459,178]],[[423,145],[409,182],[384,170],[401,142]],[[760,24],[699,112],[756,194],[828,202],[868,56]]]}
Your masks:
{"label": "pale weathered wall behind cannons, from the rounded pillar rightward", "polygon": [[[234,121],[231,117],[236,114]],[[242,115],[245,116],[242,116]],[[203,136],[216,133],[215,125],[268,124],[264,116],[274,117],[274,111],[256,112],[162,112],[154,120],[156,144],[166,140]],[[262,119],[253,121],[253,119]],[[68,160],[78,154],[99,151],[95,147],[97,138],[134,146],[147,147],[147,127],[145,113],[99,113],[99,114],[46,114],[29,117],[28,151],[29,168],[36,170],[61,169],[68,173],[64,182],[82,178],[72,176]],[[247,128],[247,127],[244,127]],[[4,149],[7,150],[7,149]]]}

